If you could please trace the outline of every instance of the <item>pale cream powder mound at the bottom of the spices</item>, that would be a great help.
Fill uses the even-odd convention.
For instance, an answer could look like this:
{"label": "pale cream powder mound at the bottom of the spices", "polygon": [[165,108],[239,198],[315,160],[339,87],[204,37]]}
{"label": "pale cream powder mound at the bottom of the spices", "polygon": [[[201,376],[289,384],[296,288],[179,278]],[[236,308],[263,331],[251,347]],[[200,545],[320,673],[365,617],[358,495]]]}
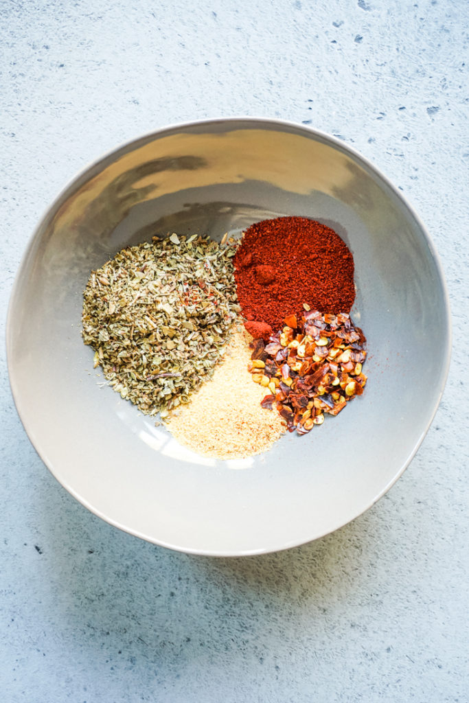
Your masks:
{"label": "pale cream powder mound at the bottom of the spices", "polygon": [[269,389],[248,373],[251,340],[236,329],[212,378],[167,422],[181,444],[219,459],[245,458],[266,451],[285,432],[277,411],[260,406]]}

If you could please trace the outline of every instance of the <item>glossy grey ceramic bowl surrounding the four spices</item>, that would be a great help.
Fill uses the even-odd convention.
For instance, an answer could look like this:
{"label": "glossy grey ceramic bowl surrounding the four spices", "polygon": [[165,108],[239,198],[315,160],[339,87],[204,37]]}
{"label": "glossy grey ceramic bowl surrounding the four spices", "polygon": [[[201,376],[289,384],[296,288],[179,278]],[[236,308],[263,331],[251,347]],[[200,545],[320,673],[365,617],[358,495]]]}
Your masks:
{"label": "glossy grey ceramic bowl surrounding the four spices", "polygon": [[[297,214],[354,254],[352,315],[368,339],[364,396],[307,437],[243,461],[199,458],[93,370],[80,337],[91,269],[155,233],[240,233]],[[8,368],[44,463],[96,515],[188,553],[289,548],[341,527],[394,484],[444,389],[449,304],[423,224],[385,176],[334,138],[254,119],[132,141],[68,185],[30,241],[11,296]]]}

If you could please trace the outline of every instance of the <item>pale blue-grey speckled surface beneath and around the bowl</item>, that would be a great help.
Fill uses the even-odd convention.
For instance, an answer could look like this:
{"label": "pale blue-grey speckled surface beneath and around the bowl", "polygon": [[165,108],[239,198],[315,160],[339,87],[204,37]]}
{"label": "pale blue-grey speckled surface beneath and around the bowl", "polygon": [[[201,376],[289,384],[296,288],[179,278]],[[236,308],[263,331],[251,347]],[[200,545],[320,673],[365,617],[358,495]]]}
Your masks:
{"label": "pale blue-grey speckled surface beneath and around the bowl", "polygon": [[340,136],[401,188],[454,318],[442,406],[390,493],[321,541],[239,560],[151,546],[75,502],[2,355],[2,701],[468,701],[469,5],[31,0],[0,21],[2,310],[87,162],[167,123],[262,115]]}

